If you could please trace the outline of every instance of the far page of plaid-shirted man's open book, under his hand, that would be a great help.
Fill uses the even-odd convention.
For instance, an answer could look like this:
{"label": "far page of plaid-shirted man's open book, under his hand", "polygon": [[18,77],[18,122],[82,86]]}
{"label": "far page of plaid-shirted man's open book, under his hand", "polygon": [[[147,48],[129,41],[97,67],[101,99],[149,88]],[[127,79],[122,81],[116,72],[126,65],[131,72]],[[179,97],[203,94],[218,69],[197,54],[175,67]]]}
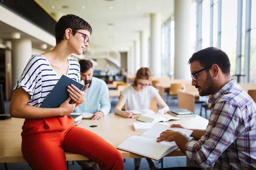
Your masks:
{"label": "far page of plaid-shirted man's open book, under his hand", "polygon": [[[193,132],[192,130],[187,130],[187,129],[182,129],[178,127],[170,127],[169,125],[163,125],[160,123],[155,123],[148,131],[143,133],[141,137],[147,138],[147,139],[152,139],[152,140],[157,140],[157,138],[160,136],[160,134],[165,131],[165,130],[175,130],[179,131],[183,134],[185,134],[187,137],[191,135]],[[171,144],[175,144],[175,142],[168,142]]]}

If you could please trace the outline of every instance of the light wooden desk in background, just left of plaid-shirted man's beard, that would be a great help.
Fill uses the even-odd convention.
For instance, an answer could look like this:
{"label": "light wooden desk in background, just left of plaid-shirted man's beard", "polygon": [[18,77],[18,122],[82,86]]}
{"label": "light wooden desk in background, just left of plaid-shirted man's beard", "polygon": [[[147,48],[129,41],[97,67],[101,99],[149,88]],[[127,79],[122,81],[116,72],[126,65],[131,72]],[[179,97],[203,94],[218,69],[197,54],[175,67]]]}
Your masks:
{"label": "light wooden desk in background, just left of plaid-shirted man's beard", "polygon": [[178,108],[184,108],[189,111],[195,111],[195,98],[199,97],[199,92],[185,92],[178,90]]}

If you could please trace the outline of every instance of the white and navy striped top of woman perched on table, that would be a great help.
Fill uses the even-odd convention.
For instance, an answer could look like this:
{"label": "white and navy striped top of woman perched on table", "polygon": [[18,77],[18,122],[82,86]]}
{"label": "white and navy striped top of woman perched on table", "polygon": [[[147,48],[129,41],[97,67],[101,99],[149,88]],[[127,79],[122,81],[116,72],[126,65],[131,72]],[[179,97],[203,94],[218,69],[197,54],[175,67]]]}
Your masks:
{"label": "white and navy striped top of woman perched on table", "polygon": [[[68,61],[69,69],[66,76],[80,82],[79,62],[71,57],[68,57]],[[40,107],[59,79],[49,61],[42,55],[35,55],[29,59],[13,91],[22,87],[31,96],[28,105]]]}

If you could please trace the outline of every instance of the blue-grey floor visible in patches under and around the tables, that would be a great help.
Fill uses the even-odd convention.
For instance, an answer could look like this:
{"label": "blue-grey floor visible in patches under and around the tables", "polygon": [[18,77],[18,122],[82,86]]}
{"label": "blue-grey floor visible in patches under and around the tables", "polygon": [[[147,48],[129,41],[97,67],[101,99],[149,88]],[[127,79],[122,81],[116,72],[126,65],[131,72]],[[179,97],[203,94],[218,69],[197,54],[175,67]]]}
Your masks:
{"label": "blue-grey floor visible in patches under and around the tables", "polygon": [[[167,104],[169,105],[170,110],[177,108],[177,99],[171,99],[170,96],[166,96]],[[113,113],[114,107],[118,102],[118,98],[111,99],[111,113]],[[9,104],[10,102],[5,102],[6,113],[9,113]],[[201,109],[200,104],[195,104],[195,113],[199,114]],[[210,111],[207,111],[207,118],[209,118]],[[203,109],[202,116],[205,117],[205,112]],[[161,167],[161,163],[155,161],[158,168]],[[186,157],[166,157],[163,159],[163,167],[184,167],[186,166]],[[29,165],[26,162],[23,163],[7,163],[8,170],[31,170]],[[0,170],[5,170],[4,163],[0,163]],[[72,165],[72,161],[69,161],[69,170],[81,170],[79,164],[76,163]],[[125,159],[124,162],[124,170],[134,170],[134,160],[133,159]],[[148,162],[143,159],[141,170],[149,170]]]}

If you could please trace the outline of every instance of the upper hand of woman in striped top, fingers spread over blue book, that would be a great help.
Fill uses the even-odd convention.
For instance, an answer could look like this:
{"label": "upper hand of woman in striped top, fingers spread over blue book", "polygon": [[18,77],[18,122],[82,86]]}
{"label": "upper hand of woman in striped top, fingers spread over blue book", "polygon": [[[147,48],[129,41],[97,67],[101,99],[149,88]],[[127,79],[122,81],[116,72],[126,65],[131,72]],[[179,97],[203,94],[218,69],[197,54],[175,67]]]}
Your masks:
{"label": "upper hand of woman in striped top, fingers spread over blue book", "polygon": [[88,86],[89,84],[85,85],[85,88],[83,91],[80,91],[79,88],[77,88],[74,85],[67,86],[67,91],[69,93],[69,96],[77,104],[76,106],[80,105],[85,101],[85,92]]}

